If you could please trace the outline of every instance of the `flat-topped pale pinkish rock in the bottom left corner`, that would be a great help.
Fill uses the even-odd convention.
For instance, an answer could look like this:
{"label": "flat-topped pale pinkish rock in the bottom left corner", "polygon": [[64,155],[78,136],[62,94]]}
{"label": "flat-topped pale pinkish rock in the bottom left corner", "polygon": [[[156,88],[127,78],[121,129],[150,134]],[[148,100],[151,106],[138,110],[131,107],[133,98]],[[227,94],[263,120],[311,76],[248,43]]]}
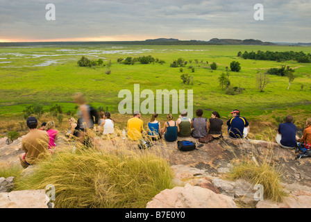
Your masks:
{"label": "flat-topped pale pinkish rock in the bottom left corner", "polygon": [[0,208],[48,208],[44,189],[0,193]]}

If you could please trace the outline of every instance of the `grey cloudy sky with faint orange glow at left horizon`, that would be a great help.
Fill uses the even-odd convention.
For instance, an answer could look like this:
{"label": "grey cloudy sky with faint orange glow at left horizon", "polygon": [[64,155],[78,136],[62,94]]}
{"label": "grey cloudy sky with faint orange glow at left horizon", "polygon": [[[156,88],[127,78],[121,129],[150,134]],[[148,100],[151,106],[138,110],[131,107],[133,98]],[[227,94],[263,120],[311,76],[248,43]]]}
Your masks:
{"label": "grey cloudy sky with faint orange glow at left horizon", "polygon": [[[56,20],[47,20],[53,3]],[[254,19],[254,6],[264,20]],[[311,0],[0,0],[0,42],[172,37],[311,42]]]}

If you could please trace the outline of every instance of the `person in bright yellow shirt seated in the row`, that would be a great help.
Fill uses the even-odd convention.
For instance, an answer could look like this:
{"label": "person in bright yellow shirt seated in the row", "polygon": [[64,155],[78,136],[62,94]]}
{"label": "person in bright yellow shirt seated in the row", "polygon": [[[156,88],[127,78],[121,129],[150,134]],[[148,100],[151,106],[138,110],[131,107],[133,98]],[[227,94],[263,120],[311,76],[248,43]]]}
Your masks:
{"label": "person in bright yellow shirt seated in the row", "polygon": [[144,131],[143,128],[143,121],[140,119],[141,114],[140,112],[134,112],[133,118],[128,119],[128,137],[133,140],[138,140],[142,138],[142,132]]}

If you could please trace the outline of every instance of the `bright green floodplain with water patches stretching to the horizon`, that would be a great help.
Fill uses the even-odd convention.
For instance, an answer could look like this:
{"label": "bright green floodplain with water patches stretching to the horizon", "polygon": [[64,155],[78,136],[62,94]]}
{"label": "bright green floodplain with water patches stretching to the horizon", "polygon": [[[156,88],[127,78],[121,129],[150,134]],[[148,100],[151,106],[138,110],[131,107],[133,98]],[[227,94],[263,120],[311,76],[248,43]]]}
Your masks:
{"label": "bright green floodplain with water patches stretching to the horizon", "polygon": [[[102,106],[112,114],[118,113],[118,98],[121,89],[134,94],[134,85],[144,89],[193,90],[194,113],[201,108],[204,117],[216,110],[221,117],[230,117],[233,109],[251,120],[273,121],[286,114],[301,114],[302,119],[311,117],[311,63],[295,60],[267,61],[244,60],[237,57],[241,51],[303,51],[311,53],[310,46],[245,46],[245,45],[54,45],[10,46],[0,48],[0,120],[22,118],[27,105],[41,103],[48,106],[57,103],[64,112],[75,110],[73,95],[83,92],[95,108]],[[164,64],[124,65],[118,58],[153,56]],[[79,67],[77,61],[85,56],[90,60],[103,59],[106,66]],[[170,67],[183,58],[187,65]],[[191,63],[190,63],[191,61]],[[230,71],[230,62],[237,61],[242,69]],[[207,63],[208,62],[208,63]],[[217,70],[210,69],[212,62]],[[106,74],[111,63],[110,74]],[[269,83],[260,92],[256,85],[258,71],[282,65],[294,69],[296,78],[288,87],[286,76],[269,75]],[[189,67],[194,68],[194,72]],[[230,85],[242,87],[241,94],[226,94],[219,85],[219,76],[228,74]],[[181,74],[193,76],[193,85],[183,84]],[[140,99],[142,103],[144,99]],[[176,117],[178,114],[176,114]],[[266,118],[267,117],[267,118]]]}

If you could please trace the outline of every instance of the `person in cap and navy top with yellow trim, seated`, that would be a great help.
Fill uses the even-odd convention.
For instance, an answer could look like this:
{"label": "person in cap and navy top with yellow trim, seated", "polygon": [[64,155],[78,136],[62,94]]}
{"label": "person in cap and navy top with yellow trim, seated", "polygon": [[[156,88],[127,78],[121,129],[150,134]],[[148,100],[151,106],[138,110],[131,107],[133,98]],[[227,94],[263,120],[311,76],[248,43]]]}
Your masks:
{"label": "person in cap and navy top with yellow trim, seated", "polygon": [[230,112],[232,118],[227,121],[228,135],[232,138],[245,138],[249,133],[249,122],[245,117],[240,117],[239,110],[233,110]]}

